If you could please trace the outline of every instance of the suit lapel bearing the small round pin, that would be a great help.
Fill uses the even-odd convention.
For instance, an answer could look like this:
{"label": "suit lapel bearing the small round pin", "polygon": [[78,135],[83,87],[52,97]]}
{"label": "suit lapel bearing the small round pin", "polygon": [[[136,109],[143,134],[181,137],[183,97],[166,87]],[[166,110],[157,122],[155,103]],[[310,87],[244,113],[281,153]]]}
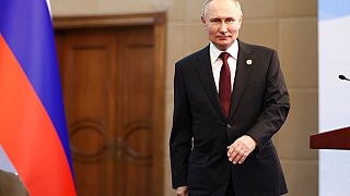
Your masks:
{"label": "suit lapel bearing the small round pin", "polygon": [[[250,72],[255,63],[250,54],[252,50],[249,46],[245,45],[242,41],[238,41],[238,47],[240,49],[237,58],[237,68],[231,96],[231,108],[229,119],[232,119],[234,112],[236,111],[235,108],[238,106],[245,84],[250,75]],[[250,60],[252,64],[248,64],[247,60]]]}

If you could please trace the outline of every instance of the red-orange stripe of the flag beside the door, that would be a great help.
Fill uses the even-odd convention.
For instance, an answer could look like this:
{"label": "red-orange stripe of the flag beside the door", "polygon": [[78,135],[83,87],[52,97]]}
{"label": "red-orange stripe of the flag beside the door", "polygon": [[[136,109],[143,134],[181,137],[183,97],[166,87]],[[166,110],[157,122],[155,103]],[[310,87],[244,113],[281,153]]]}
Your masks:
{"label": "red-orange stripe of the flag beside the door", "polygon": [[50,118],[0,34],[0,138],[33,196],[75,195]]}

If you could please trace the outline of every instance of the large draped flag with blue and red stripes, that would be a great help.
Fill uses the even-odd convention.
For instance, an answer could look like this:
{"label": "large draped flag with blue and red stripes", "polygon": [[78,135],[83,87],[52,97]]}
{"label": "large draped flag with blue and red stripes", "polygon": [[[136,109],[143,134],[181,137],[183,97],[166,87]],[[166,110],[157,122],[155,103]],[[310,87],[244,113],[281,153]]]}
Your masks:
{"label": "large draped flag with blue and red stripes", "polygon": [[30,195],[77,195],[45,0],[0,1],[0,145]]}

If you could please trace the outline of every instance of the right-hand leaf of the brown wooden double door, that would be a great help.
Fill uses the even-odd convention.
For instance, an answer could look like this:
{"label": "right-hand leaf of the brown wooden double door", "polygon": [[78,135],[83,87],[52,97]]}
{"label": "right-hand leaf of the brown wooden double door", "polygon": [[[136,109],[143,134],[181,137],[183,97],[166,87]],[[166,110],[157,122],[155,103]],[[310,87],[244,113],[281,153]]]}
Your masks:
{"label": "right-hand leaf of the brown wooden double door", "polygon": [[[118,95],[118,115],[116,124],[118,140],[122,140],[122,150],[117,152],[118,188],[125,195],[138,195],[138,192],[152,195],[153,173],[152,149],[154,132],[154,47],[152,30],[142,27],[119,32],[117,61],[120,66]],[[140,33],[142,35],[140,35]],[[153,102],[153,103],[152,103]],[[127,177],[126,177],[127,176]]]}

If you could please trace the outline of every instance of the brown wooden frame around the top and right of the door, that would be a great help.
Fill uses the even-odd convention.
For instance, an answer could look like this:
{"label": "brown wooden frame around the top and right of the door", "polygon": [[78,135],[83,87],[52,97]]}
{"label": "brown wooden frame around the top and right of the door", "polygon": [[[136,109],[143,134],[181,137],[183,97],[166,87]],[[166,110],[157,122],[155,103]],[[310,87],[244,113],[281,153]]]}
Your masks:
{"label": "brown wooden frame around the top and right of the door", "polygon": [[[121,14],[121,15],[94,15],[94,16],[54,16],[55,30],[73,30],[78,28],[103,28],[122,26],[153,26],[154,60],[155,60],[155,149],[152,182],[153,195],[163,195],[164,192],[164,130],[165,130],[165,57],[166,57],[166,14],[165,12]],[[60,47],[60,46],[58,46]]]}

